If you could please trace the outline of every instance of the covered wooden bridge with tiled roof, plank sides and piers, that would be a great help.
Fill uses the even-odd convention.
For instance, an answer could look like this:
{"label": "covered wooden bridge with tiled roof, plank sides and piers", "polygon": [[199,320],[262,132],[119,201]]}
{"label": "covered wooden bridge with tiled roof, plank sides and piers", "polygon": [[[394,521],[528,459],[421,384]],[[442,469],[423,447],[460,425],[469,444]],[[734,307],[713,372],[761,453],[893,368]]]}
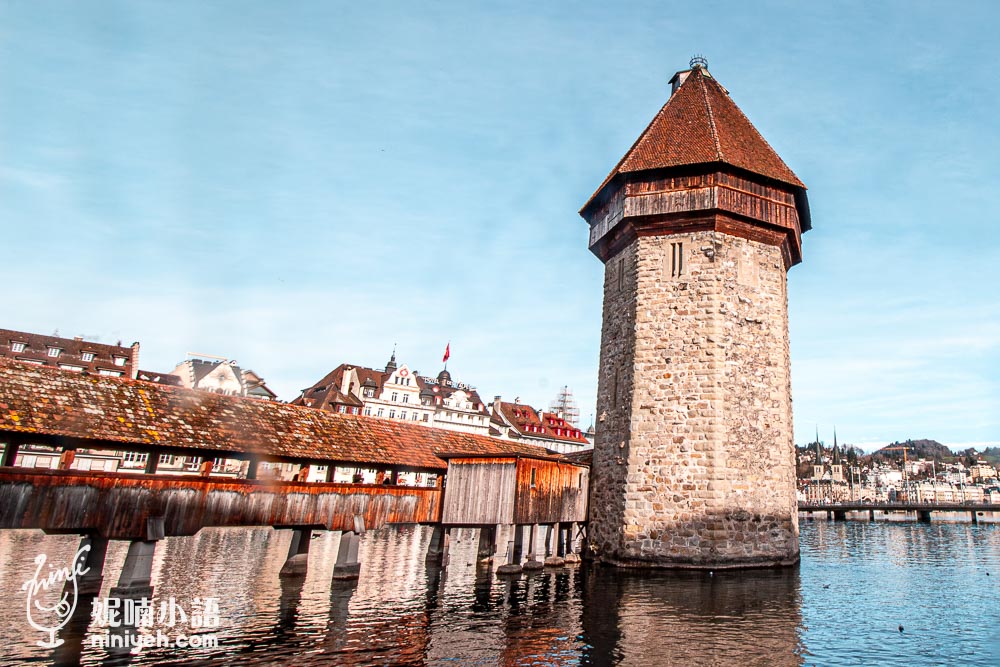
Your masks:
{"label": "covered wooden bridge with tiled roof, plank sides and piers", "polygon": [[[304,572],[312,530],[343,531],[334,576],[356,577],[358,536],[366,528],[434,524],[428,557],[446,563],[451,526],[483,528],[485,556],[496,549],[499,525],[523,525],[533,560],[539,525],[546,539],[565,538],[571,524],[586,520],[588,467],[539,447],[6,360],[0,360],[0,444],[0,529],[82,534],[98,572],[107,540],[130,540],[122,589],[148,586],[157,540],[207,526],[293,529],[287,574]],[[55,469],[17,465],[19,453],[38,446],[58,452]],[[83,450],[143,453],[147,465],[134,473],[82,471],[74,460]],[[199,474],[157,471],[165,454],[196,457]],[[220,458],[245,462],[243,476],[213,475],[212,462]],[[297,480],[318,467],[327,481],[258,478],[262,463],[292,464]],[[469,483],[468,471],[488,465],[516,474],[482,474]],[[338,468],[359,467],[379,470],[387,482],[417,472],[436,484],[332,481]],[[507,496],[505,507],[518,512],[477,507],[477,498]],[[544,544],[565,551],[570,540]]]}

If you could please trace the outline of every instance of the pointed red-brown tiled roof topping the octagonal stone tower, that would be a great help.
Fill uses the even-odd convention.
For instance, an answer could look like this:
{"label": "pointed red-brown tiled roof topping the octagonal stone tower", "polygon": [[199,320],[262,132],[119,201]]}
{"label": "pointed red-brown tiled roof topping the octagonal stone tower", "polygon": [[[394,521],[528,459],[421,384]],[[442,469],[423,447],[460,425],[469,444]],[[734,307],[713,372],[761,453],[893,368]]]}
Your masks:
{"label": "pointed red-brown tiled roof topping the octagonal stone tower", "polygon": [[695,68],[583,209],[621,174],[713,163],[805,188],[719,82]]}

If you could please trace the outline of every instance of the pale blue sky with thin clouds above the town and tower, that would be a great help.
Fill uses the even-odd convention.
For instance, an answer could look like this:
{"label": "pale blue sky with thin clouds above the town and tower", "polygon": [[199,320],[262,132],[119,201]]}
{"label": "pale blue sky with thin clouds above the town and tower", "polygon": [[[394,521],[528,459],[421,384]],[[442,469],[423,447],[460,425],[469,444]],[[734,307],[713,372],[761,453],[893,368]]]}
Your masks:
{"label": "pale blue sky with thin clouds above the town and tower", "polygon": [[994,3],[0,1],[0,326],[593,413],[577,215],[695,53],[809,186],[796,441],[1000,441]]}

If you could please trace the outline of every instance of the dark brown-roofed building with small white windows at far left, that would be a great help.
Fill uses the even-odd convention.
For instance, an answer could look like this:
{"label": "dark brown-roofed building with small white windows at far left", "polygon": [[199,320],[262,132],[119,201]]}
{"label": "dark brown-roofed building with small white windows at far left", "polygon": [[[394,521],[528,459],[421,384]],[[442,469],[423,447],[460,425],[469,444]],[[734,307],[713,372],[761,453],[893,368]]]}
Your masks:
{"label": "dark brown-roofed building with small white windows at far left", "polygon": [[125,347],[95,343],[82,336],[61,338],[0,329],[0,357],[64,371],[109,377],[135,378],[139,365],[139,343]]}

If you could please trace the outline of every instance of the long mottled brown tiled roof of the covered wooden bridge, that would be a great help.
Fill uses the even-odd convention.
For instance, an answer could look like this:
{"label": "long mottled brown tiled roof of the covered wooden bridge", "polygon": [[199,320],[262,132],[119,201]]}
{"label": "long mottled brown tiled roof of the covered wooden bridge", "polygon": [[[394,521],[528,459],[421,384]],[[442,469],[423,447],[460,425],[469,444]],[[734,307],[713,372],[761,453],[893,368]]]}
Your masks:
{"label": "long mottled brown tiled roof of the covered wooden bridge", "polygon": [[2,432],[102,441],[122,449],[198,449],[426,470],[446,467],[437,453],[552,453],[418,424],[0,359]]}

